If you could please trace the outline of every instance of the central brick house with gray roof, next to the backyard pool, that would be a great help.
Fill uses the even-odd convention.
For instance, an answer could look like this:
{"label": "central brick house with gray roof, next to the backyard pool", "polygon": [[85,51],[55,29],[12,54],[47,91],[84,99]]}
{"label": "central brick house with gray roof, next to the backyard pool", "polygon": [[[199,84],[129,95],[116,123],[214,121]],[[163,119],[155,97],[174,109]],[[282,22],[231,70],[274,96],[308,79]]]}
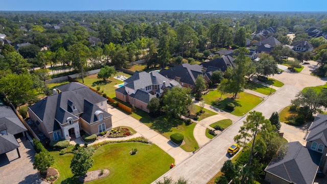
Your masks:
{"label": "central brick house with gray roof, next to the backyard pool", "polygon": [[129,102],[134,107],[149,112],[147,105],[154,97],[159,97],[166,88],[179,86],[157,72],[138,72],[124,81],[124,86],[115,90],[116,98]]}

